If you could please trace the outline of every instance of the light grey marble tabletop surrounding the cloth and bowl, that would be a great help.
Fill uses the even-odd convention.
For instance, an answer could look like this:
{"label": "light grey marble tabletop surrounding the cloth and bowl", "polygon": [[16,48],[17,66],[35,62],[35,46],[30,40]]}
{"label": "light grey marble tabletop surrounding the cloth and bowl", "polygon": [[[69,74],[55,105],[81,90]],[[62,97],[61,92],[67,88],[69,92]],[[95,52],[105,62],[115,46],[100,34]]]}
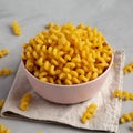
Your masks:
{"label": "light grey marble tabletop surrounding the cloth and bowl", "polygon": [[[11,76],[0,78],[0,99],[6,98],[20,63],[21,44],[35,35],[49,22],[78,24],[84,22],[106,37],[114,49],[124,49],[125,63],[133,61],[133,1],[132,0],[0,0],[0,49],[7,48],[10,54],[0,59],[0,68],[13,68]],[[22,35],[12,34],[10,24],[17,20],[22,28]],[[124,76],[123,89],[133,91],[133,73]],[[122,112],[133,111],[132,102],[124,102]],[[69,126],[4,120],[0,123],[16,133],[86,133]],[[131,123],[120,126],[120,133],[131,133]]]}

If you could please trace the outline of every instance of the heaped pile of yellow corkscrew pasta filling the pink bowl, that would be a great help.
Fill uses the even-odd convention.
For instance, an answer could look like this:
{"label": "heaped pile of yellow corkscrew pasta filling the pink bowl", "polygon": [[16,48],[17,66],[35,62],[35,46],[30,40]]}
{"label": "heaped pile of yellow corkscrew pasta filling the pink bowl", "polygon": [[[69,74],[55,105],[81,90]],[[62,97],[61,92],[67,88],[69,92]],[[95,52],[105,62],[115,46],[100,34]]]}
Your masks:
{"label": "heaped pile of yellow corkscrew pasta filling the pink bowl", "polygon": [[71,22],[48,27],[23,44],[22,60],[35,78],[71,85],[94,80],[109,68],[113,50],[96,28]]}

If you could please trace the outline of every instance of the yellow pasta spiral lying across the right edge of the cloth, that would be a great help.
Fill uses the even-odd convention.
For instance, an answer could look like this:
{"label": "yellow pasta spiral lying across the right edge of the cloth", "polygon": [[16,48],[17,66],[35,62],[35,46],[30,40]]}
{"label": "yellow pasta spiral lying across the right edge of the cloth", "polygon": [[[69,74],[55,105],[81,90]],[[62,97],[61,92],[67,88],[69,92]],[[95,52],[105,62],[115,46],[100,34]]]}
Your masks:
{"label": "yellow pasta spiral lying across the right edge of the cloth", "polygon": [[127,92],[127,91],[121,91],[121,90],[116,89],[113,92],[113,98],[119,98],[119,99],[122,99],[124,101],[133,100],[133,93],[132,92]]}

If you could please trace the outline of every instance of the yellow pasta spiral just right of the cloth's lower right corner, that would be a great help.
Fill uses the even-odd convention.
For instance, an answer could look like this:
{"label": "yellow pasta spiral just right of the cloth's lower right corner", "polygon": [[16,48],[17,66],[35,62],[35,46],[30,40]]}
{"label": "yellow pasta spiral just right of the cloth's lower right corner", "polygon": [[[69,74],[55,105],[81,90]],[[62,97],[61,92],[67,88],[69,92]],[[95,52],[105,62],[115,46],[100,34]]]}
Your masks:
{"label": "yellow pasta spiral just right of the cloth's lower right corner", "polygon": [[124,124],[126,122],[131,122],[133,121],[133,112],[130,113],[124,113],[121,117],[120,117],[120,123]]}

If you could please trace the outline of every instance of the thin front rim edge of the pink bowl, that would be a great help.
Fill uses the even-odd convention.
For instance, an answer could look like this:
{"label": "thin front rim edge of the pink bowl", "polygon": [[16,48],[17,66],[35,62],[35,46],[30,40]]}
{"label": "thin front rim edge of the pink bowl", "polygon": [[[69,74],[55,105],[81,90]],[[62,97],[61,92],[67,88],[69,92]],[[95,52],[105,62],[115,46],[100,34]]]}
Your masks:
{"label": "thin front rim edge of the pink bowl", "polygon": [[69,88],[73,88],[73,86],[80,86],[80,85],[85,85],[85,84],[92,84],[93,82],[95,82],[95,81],[98,81],[99,79],[101,79],[102,76],[104,76],[104,75],[110,71],[110,69],[112,68],[113,60],[114,60],[114,54],[112,53],[110,65],[109,65],[108,69],[106,69],[101,75],[99,75],[96,79],[91,80],[91,81],[88,81],[88,82],[79,83],[79,84],[72,84],[72,85],[53,84],[53,83],[49,83],[49,82],[42,82],[42,81],[40,81],[38,78],[35,78],[33,74],[31,74],[31,73],[27,70],[27,68],[24,66],[24,63],[23,63],[23,60],[22,60],[22,59],[21,59],[21,62],[22,62],[21,64],[22,64],[24,71],[25,71],[31,78],[33,78],[34,80],[37,80],[37,81],[40,82],[40,83],[45,83],[45,84],[48,84],[48,85],[60,86],[60,88],[61,88],[61,86],[63,86],[63,88],[68,88],[68,86],[69,86]]}

